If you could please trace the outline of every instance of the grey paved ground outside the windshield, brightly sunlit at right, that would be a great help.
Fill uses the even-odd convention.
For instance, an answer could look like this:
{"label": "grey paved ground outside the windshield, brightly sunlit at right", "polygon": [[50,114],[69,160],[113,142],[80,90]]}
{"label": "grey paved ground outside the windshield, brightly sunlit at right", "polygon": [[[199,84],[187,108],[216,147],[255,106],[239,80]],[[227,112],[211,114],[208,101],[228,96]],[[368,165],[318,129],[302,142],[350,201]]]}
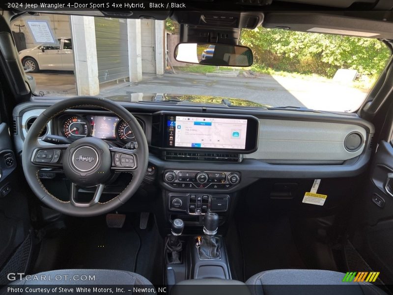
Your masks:
{"label": "grey paved ground outside the windshield, brightly sunlit at right", "polygon": [[[72,72],[46,71],[31,74],[37,90],[45,95],[76,95]],[[103,84],[101,95],[127,92],[198,94],[245,98],[271,106],[303,106],[326,111],[357,109],[366,93],[329,79],[260,75],[257,77],[207,77],[201,74],[177,73],[164,76],[144,76],[139,83],[121,82]]]}

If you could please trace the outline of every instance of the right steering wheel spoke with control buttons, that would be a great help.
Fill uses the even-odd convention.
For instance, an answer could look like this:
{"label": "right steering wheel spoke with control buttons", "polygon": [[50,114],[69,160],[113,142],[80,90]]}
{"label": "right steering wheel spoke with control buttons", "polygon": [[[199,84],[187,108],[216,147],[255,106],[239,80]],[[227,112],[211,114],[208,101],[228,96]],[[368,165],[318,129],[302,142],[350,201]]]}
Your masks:
{"label": "right steering wheel spoke with control buttons", "polygon": [[110,148],[113,172],[129,172],[138,168],[138,149]]}

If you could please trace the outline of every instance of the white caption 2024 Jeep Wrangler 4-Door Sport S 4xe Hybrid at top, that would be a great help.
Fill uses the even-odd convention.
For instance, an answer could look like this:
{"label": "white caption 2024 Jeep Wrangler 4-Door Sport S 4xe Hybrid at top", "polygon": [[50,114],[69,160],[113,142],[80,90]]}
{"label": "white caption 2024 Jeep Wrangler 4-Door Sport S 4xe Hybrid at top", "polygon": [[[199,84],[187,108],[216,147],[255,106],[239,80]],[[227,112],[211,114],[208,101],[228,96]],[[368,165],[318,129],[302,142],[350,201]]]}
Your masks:
{"label": "white caption 2024 Jeep Wrangler 4-Door Sport S 4xe Hybrid at top", "polygon": [[61,10],[61,9],[104,9],[104,8],[117,8],[117,9],[169,9],[169,8],[187,8],[186,4],[183,2],[7,2],[7,8],[19,8],[19,9],[51,9],[51,10]]}

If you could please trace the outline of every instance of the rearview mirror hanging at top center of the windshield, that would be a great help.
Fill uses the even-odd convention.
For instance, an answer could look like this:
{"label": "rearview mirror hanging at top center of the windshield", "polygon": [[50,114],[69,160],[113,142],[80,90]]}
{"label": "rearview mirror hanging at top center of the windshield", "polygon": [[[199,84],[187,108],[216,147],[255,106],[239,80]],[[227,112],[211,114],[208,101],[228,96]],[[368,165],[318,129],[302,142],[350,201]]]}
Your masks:
{"label": "rearview mirror hanging at top center of the windshield", "polygon": [[177,61],[222,66],[250,66],[253,52],[240,45],[215,43],[180,43],[174,52]]}

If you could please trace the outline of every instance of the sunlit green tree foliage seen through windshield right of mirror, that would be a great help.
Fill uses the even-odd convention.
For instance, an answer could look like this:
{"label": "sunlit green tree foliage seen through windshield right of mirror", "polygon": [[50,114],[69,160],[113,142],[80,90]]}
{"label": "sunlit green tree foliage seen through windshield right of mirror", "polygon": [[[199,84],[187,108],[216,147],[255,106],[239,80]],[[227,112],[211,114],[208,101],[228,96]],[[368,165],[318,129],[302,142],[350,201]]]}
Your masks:
{"label": "sunlit green tree foliage seen through windshield right of mirror", "polygon": [[328,78],[339,68],[379,75],[391,55],[377,39],[262,27],[243,29],[240,42],[253,49],[257,66]]}

